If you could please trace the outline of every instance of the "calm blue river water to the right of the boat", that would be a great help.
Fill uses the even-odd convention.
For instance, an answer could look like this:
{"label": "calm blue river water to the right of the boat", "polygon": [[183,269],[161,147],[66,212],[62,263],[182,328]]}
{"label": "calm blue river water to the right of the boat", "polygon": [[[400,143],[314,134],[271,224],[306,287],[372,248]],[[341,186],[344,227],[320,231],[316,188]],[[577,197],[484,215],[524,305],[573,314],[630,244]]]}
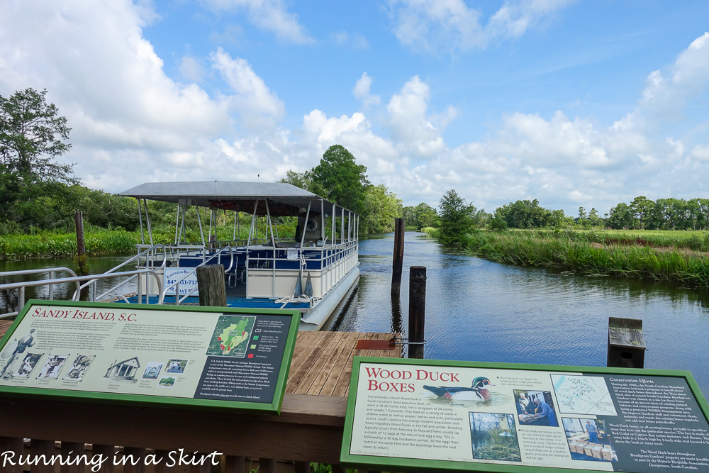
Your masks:
{"label": "calm blue river water to the right of the boat", "polygon": [[641,318],[645,367],[688,369],[709,394],[709,291],[499,265],[406,233],[396,304],[392,252],[393,235],[360,242],[359,290],[332,330],[406,333],[408,267],[425,266],[426,358],[603,367],[608,316]]}

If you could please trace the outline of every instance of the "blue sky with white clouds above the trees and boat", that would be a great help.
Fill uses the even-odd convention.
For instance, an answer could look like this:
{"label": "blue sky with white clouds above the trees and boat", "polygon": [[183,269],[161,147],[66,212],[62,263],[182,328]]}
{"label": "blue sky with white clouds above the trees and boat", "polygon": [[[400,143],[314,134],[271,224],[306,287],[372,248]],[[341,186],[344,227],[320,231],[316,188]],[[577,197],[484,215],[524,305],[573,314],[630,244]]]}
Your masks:
{"label": "blue sky with white clouds above the trees and boat", "polygon": [[340,144],[406,206],[709,197],[705,0],[3,0],[93,189],[275,182]]}

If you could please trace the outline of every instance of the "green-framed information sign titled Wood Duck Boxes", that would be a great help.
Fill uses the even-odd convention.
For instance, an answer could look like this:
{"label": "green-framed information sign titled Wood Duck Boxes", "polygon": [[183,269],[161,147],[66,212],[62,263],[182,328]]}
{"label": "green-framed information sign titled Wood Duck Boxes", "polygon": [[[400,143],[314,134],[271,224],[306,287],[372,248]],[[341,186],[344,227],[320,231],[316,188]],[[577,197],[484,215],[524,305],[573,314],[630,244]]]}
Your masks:
{"label": "green-framed information sign titled Wood Duck Boxes", "polygon": [[354,357],[340,462],[709,472],[708,416],[689,372]]}

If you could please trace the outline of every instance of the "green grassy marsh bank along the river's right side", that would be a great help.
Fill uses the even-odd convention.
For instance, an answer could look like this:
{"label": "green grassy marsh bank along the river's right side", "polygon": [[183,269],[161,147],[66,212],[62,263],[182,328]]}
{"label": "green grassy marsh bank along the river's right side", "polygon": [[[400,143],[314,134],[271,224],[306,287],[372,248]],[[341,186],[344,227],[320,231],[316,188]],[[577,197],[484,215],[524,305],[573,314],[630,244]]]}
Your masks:
{"label": "green grassy marsh bank along the river's right side", "polygon": [[709,286],[709,235],[703,232],[476,230],[459,246],[513,265]]}

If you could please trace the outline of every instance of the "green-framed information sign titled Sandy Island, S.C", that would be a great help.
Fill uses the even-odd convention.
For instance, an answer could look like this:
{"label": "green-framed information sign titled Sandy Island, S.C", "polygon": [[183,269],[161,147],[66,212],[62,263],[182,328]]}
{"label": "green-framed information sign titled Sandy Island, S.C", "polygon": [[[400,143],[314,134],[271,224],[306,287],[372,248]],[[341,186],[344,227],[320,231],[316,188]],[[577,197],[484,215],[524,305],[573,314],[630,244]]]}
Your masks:
{"label": "green-framed information sign titled Sandy Island, S.C", "polygon": [[0,394],[280,411],[298,311],[29,301]]}

